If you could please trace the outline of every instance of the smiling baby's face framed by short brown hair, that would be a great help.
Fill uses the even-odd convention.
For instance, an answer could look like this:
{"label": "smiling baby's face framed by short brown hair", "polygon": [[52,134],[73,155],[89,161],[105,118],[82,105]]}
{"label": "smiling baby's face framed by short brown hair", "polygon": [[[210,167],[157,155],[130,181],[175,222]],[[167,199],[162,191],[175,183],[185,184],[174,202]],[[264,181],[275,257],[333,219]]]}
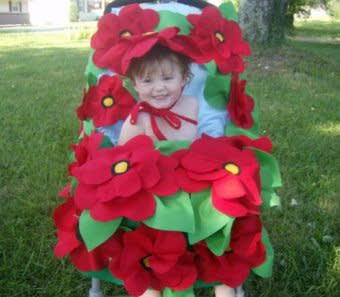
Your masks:
{"label": "smiling baby's face framed by short brown hair", "polygon": [[134,81],[140,100],[155,108],[169,108],[174,105],[181,97],[185,85],[180,66],[171,61],[150,65]]}

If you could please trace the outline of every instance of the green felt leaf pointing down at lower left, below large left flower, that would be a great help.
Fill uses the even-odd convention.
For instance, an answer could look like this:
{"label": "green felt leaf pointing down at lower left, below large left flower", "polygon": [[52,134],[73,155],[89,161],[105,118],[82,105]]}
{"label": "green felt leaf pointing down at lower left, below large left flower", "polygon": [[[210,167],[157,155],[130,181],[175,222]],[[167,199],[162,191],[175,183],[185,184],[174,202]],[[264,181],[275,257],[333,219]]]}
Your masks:
{"label": "green felt leaf pointing down at lower left, below large left flower", "polygon": [[95,221],[88,210],[84,210],[79,218],[79,231],[88,251],[93,250],[114,234],[122,218],[109,222]]}

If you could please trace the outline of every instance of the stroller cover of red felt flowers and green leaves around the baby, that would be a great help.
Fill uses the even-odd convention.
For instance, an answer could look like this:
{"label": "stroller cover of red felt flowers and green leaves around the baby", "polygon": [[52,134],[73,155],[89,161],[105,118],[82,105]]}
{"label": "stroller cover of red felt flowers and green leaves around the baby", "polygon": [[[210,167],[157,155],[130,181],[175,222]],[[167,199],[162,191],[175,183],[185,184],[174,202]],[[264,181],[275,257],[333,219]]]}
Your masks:
{"label": "stroller cover of red felt flowers and green leaves around the baby", "polygon": [[[54,211],[57,257],[133,296],[147,288],[189,296],[202,285],[237,287],[251,272],[271,275],[260,214],[279,205],[281,179],[241,78],[250,48],[236,21],[231,3],[131,4],[99,20],[70,183]],[[156,44],[193,61],[184,95],[199,103],[197,139],[139,135],[117,145],[123,121],[140,108],[122,75]]]}

